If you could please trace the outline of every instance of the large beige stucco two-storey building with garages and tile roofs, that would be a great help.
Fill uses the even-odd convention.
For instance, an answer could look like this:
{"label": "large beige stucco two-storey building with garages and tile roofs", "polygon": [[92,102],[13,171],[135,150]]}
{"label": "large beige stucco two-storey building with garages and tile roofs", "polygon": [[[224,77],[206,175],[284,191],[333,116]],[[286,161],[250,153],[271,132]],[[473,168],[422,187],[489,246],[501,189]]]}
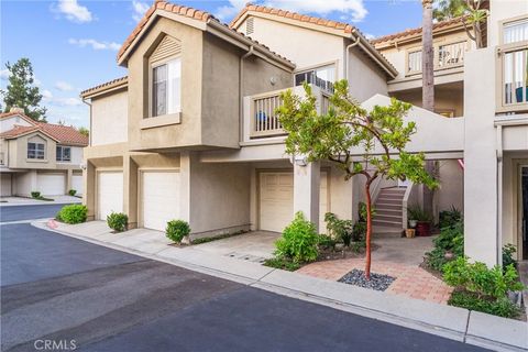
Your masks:
{"label": "large beige stucco two-storey building with garages and tile roofs", "polygon": [[[520,8],[491,1],[490,45],[497,43],[494,33],[502,19],[525,13],[518,18],[518,31],[524,31],[528,9],[518,3]],[[512,23],[508,25],[517,25]],[[184,219],[194,237],[282,231],[295,211],[305,212],[321,231],[327,211],[355,218],[364,180],[345,182],[330,164],[290,160],[284,153],[285,133],[274,113],[280,92],[294,89],[300,94],[302,81],[312,85],[318,108],[324,111],[333,81],[342,78],[365,108],[388,103],[386,96],[414,103],[407,119],[417,122],[418,133],[409,151],[425,152],[428,160],[438,162],[441,188],[433,196],[436,216],[452,205],[466,213],[475,211],[479,206],[470,209],[469,204],[473,205],[483,189],[492,191],[491,200],[498,190],[487,183],[485,188],[470,191],[480,184],[468,178],[475,167],[472,150],[479,143],[494,148],[496,132],[493,122],[486,125],[491,132],[482,134],[486,136],[483,141],[479,130],[469,124],[477,119],[471,107],[480,99],[477,89],[495,91],[498,86],[490,81],[480,88],[474,68],[468,68],[468,57],[495,48],[475,50],[460,21],[436,24],[438,103],[433,113],[419,108],[420,32],[410,30],[370,42],[350,24],[254,4],[248,4],[227,26],[206,12],[155,2],[118,54],[118,64],[128,68],[128,77],[81,92],[91,103],[92,133],[85,151],[85,204],[90,218],[106,219],[111,211],[123,211],[131,227],[156,230],[164,230],[170,219]],[[526,42],[519,45],[507,46],[521,53],[512,64],[515,67],[527,59]],[[486,74],[494,74],[495,62],[486,63],[491,65]],[[506,72],[512,74],[512,68]],[[521,77],[526,81],[526,75]],[[526,95],[521,98],[525,100],[515,109],[528,110]],[[486,103],[493,105],[486,113],[494,114],[495,96],[487,97]],[[510,106],[503,109],[513,111]],[[512,124],[514,120],[520,124],[528,121],[508,121]],[[526,131],[509,129],[528,144]],[[472,133],[476,135],[470,140]],[[525,154],[528,150],[528,145],[515,147]],[[490,172],[495,177],[496,160],[486,163],[492,162],[495,168],[490,166]],[[481,177],[482,182],[487,177]],[[397,199],[383,194],[384,188],[395,186],[403,188]],[[384,230],[400,231],[407,223],[407,205],[422,204],[425,198],[422,187],[406,183],[381,179],[373,188],[374,199],[381,195],[375,221]],[[516,207],[521,209],[518,204]],[[496,232],[493,239],[488,232],[496,227],[482,232],[471,216],[466,220],[466,232],[472,231],[466,234],[468,253],[495,263],[497,256],[488,253],[497,253],[501,242]],[[514,221],[520,224],[520,220]],[[486,235],[479,238],[481,232]],[[504,237],[504,243],[522,246],[520,239],[517,232]]]}

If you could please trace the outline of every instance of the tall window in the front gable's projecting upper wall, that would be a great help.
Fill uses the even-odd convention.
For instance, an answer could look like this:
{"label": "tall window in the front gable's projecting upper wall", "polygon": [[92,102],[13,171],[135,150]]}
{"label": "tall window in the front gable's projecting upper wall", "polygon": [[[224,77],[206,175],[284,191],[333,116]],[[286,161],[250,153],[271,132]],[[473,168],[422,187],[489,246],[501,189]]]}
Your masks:
{"label": "tall window in the front gable's projecting upper wall", "polygon": [[182,61],[176,58],[152,68],[152,116],[180,111]]}

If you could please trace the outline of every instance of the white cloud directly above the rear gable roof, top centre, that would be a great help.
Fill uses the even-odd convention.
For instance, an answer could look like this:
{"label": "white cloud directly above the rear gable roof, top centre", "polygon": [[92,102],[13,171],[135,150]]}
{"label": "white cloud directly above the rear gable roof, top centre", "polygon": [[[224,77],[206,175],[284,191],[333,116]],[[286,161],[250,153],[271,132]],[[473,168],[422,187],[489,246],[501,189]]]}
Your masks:
{"label": "white cloud directly above the rear gable roof, top centre", "polygon": [[[215,13],[222,21],[231,20],[244,6],[246,0],[229,0],[229,6],[222,6]],[[361,22],[366,16],[363,0],[265,0],[260,1],[264,6],[283,10],[315,13],[327,15],[331,12],[339,12],[342,21]]]}

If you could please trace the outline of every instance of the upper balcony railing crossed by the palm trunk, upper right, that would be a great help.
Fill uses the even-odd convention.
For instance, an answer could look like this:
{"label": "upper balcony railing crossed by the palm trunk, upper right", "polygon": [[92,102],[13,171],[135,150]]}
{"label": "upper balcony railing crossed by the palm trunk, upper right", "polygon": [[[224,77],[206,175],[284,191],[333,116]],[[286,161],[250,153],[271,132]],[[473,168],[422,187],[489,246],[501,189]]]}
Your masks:
{"label": "upper balcony railing crossed by the palm trunk, upper right", "polygon": [[[464,65],[464,54],[470,50],[468,41],[435,45],[435,69],[453,68]],[[407,53],[407,75],[421,74],[421,50]]]}

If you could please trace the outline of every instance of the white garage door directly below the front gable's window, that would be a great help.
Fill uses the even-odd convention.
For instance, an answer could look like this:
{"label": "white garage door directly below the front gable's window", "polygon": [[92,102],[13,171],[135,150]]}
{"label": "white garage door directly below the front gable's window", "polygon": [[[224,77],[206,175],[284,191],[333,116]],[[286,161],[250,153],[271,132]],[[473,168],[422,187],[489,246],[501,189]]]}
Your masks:
{"label": "white garage door directly below the front gable's window", "polygon": [[143,173],[144,228],[165,231],[168,221],[179,219],[179,186],[180,178],[177,172]]}

